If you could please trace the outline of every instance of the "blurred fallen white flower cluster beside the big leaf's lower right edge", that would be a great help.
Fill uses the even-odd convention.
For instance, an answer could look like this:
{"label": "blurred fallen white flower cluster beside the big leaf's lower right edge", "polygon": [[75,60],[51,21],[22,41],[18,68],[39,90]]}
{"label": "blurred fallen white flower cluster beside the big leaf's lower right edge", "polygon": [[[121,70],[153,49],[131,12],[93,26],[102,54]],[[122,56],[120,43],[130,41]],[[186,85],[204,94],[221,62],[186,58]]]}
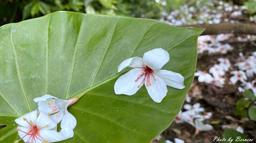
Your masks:
{"label": "blurred fallen white flower cluster beside the big leaf's lower right edge", "polygon": [[194,105],[185,104],[183,107],[186,111],[180,111],[179,115],[175,118],[177,124],[186,122],[192,125],[196,128],[195,134],[198,134],[200,131],[209,131],[213,129],[210,124],[203,123],[203,121],[209,119],[212,114],[211,112],[206,112],[203,115],[202,112],[204,112],[204,108],[200,107],[200,103]]}

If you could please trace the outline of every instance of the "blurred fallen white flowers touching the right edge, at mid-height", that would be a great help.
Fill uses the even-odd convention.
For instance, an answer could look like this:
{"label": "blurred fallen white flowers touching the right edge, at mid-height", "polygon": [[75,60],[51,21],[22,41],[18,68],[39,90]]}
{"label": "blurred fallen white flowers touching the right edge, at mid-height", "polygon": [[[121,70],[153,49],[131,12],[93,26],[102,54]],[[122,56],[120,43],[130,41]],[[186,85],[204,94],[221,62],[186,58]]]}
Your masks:
{"label": "blurred fallen white flowers touching the right edge, at mid-height", "polygon": [[[237,81],[241,81],[241,85],[244,86],[244,89],[252,90],[254,96],[256,96],[256,80],[252,80],[251,82],[247,81],[247,77],[252,77],[254,74],[256,74],[256,51],[254,51],[247,59],[245,59],[242,53],[240,53],[240,56],[241,62],[234,64],[239,68],[239,71],[230,72],[233,74],[230,81],[232,84],[236,84]],[[239,87],[240,92],[244,92],[244,89]]]}

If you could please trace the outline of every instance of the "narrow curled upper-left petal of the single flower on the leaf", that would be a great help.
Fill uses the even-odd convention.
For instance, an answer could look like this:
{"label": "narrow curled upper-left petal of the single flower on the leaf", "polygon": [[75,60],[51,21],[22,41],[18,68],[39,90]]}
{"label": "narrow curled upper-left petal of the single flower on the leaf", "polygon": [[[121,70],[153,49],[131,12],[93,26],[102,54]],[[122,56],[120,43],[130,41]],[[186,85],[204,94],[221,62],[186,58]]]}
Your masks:
{"label": "narrow curled upper-left petal of the single flower on the leaf", "polygon": [[142,58],[135,56],[135,57],[133,57],[133,58],[124,60],[124,61],[118,66],[118,72],[120,72],[120,71],[121,71],[122,69],[124,69],[125,67],[134,68],[135,66],[137,66],[137,67],[143,67]]}

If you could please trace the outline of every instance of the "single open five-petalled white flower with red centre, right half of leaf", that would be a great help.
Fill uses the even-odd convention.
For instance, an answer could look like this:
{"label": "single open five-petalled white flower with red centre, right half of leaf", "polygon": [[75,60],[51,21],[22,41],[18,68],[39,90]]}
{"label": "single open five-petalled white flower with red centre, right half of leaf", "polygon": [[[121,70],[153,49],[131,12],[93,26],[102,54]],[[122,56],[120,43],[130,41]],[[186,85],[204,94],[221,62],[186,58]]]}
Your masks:
{"label": "single open five-petalled white flower with red centre, right half of leaf", "polygon": [[145,83],[150,97],[160,103],[166,96],[167,86],[176,89],[183,89],[184,77],[172,71],[161,70],[169,61],[169,54],[162,48],[145,52],[143,59],[134,57],[123,61],[118,66],[118,72],[125,67],[134,68],[121,75],[115,85],[116,94],[134,95]]}

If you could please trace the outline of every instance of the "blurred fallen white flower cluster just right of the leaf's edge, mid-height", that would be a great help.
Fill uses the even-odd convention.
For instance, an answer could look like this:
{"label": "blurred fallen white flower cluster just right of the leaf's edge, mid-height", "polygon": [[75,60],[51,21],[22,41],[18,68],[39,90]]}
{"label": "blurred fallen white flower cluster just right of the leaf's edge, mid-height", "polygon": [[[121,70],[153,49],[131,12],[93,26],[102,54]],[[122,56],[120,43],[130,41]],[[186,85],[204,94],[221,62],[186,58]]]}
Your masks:
{"label": "blurred fallen white flower cluster just right of the leaf's edge, mid-height", "polygon": [[218,61],[220,62],[218,65],[214,65],[209,69],[209,73],[198,71],[195,73],[195,76],[198,76],[199,82],[211,83],[216,85],[219,88],[223,88],[225,83],[225,78],[222,76],[225,75],[225,72],[228,71],[231,64],[228,59],[219,58]]}

